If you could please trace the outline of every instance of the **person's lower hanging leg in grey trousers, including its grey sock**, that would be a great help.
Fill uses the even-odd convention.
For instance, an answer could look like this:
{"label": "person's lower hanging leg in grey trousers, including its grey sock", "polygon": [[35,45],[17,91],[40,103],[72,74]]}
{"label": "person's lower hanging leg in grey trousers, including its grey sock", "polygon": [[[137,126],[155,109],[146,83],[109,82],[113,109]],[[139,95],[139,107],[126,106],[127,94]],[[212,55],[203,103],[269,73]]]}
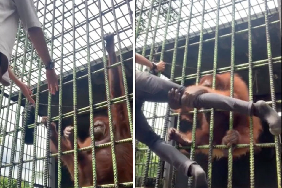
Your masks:
{"label": "person's lower hanging leg in grey trousers, including its grey sock", "polygon": [[136,139],[149,146],[152,152],[162,160],[173,165],[179,172],[186,176],[193,176],[196,187],[207,187],[205,171],[195,161],[188,159],[175,147],[165,143],[149,126],[141,105],[136,105],[135,113]]}

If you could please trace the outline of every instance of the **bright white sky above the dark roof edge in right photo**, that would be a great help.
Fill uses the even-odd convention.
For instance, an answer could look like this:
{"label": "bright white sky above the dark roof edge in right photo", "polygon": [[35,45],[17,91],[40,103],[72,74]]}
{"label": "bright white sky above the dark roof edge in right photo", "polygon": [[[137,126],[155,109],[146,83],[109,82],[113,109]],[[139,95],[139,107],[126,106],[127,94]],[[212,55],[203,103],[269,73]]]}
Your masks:
{"label": "bright white sky above the dark roof edge in right photo", "polygon": [[[141,6],[141,0],[137,0],[139,6]],[[192,8],[192,20],[191,20],[191,28],[190,28],[190,36],[192,37],[195,32],[200,31],[201,27],[201,19],[202,19],[202,0],[194,0],[193,1],[193,8]],[[173,9],[179,11],[179,3],[180,1],[172,1]],[[235,20],[240,18],[245,18],[248,16],[248,1],[247,0],[236,0],[235,1]],[[264,1],[263,0],[252,0],[251,1],[251,14],[259,14],[264,11]],[[150,0],[145,0],[144,2],[144,9],[149,8]],[[276,0],[268,0],[267,2],[268,9],[273,9],[277,7]],[[208,0],[205,3],[205,13],[204,15],[204,29],[210,29],[211,27],[216,26],[216,7],[217,7],[217,0]],[[186,36],[187,34],[187,27],[188,27],[188,17],[190,14],[190,1],[183,1],[182,11],[181,11],[181,22],[180,22],[180,29],[179,29],[179,36]],[[232,21],[232,1],[231,0],[221,0],[220,1],[220,12],[219,12],[219,25],[224,24],[226,27],[231,26]],[[270,14],[270,12],[269,12]],[[137,14],[136,14],[137,15]],[[148,14],[149,15],[149,14]],[[148,17],[145,14],[142,14],[143,19],[148,21]],[[139,19],[139,14],[136,20]],[[177,17],[174,17],[175,21],[171,26],[168,26],[168,35],[166,39],[174,39],[176,34],[176,27],[177,27]],[[154,28],[156,25],[157,20],[157,12],[153,12],[153,17],[151,21],[151,26]],[[136,21],[137,23],[137,21]],[[137,24],[136,24],[137,25]],[[147,27],[147,25],[146,25]],[[155,43],[162,44],[163,37],[164,37],[164,29],[165,29],[165,19],[162,17],[159,19],[158,29],[157,29],[157,37]],[[147,45],[151,45],[152,43],[153,32],[149,32],[148,42]],[[143,47],[145,42],[145,34],[144,32],[136,40],[136,48]]]}

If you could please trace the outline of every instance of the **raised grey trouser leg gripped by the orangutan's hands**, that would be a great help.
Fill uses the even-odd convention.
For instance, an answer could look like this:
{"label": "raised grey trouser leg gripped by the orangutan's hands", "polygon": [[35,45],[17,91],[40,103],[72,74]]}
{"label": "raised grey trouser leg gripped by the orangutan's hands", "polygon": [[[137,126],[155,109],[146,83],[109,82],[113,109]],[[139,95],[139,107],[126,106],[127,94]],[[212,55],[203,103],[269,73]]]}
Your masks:
{"label": "raised grey trouser leg gripped by the orangutan's hands", "polygon": [[[168,91],[172,88],[178,89],[181,94],[185,91],[184,86],[145,72],[135,73],[135,83],[135,98],[138,102],[168,102]],[[251,115],[252,104],[216,93],[204,93],[193,102],[195,108],[215,108],[244,115]]]}

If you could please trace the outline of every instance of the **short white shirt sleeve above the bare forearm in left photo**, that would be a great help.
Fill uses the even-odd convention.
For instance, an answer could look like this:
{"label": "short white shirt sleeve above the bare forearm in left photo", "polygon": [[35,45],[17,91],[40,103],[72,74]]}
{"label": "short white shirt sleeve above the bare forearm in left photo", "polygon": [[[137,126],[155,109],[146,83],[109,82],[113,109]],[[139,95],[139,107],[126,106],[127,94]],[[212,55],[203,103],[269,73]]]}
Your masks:
{"label": "short white shirt sleeve above the bare forearm in left photo", "polygon": [[14,0],[17,12],[20,17],[23,27],[28,30],[32,27],[40,27],[36,9],[32,0]]}

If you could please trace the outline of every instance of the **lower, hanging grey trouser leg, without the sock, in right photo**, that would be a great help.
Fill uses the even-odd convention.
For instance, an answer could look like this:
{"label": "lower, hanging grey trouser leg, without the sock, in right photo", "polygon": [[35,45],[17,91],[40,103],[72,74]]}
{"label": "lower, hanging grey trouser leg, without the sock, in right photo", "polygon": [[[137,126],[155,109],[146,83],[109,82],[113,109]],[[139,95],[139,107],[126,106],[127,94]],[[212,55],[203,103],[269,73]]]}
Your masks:
{"label": "lower, hanging grey trouser leg, without the sock, in right photo", "polygon": [[188,159],[184,154],[179,152],[175,147],[165,143],[150,127],[143,112],[141,111],[142,103],[136,104],[135,111],[135,136],[136,139],[151,149],[162,160],[173,165],[179,172],[186,174],[191,164],[196,163]]}

